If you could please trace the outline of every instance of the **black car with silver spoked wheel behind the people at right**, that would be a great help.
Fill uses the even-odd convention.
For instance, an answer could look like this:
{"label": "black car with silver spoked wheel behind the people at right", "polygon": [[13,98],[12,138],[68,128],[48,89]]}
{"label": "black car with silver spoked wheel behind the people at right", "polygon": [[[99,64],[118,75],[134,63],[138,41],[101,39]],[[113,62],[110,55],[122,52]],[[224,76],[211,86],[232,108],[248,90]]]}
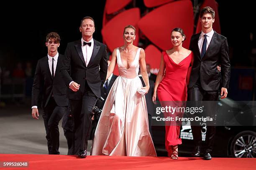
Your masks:
{"label": "black car with silver spoked wheel behind the people at right", "polygon": [[[212,155],[215,157],[256,158],[256,112],[255,103],[237,102],[229,98],[218,101],[218,112],[223,118],[216,126],[215,145]],[[153,121],[154,121],[154,117]],[[189,122],[183,122],[179,145],[179,155],[190,156],[195,145]],[[154,122],[153,122],[154,125]],[[222,125],[222,126],[221,126]],[[202,140],[205,140],[206,127],[202,123]],[[152,126],[153,141],[158,156],[166,156],[164,147],[165,127]]]}

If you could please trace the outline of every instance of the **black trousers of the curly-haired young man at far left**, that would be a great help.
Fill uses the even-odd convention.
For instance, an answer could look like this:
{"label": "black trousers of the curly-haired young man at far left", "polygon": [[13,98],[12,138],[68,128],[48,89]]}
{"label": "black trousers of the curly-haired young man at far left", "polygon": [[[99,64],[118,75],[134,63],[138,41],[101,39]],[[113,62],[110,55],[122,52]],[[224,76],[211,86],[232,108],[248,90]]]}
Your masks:
{"label": "black trousers of the curly-haired young man at far left", "polygon": [[58,106],[54,97],[50,97],[46,107],[43,108],[44,126],[49,154],[59,155],[59,121],[67,112],[67,107]]}

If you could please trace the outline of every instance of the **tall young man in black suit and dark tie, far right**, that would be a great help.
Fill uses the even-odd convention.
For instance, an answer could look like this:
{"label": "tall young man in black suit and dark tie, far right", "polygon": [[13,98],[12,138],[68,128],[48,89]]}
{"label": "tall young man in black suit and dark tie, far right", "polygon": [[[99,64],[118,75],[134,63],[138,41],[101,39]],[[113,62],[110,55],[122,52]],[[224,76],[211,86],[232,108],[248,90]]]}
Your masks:
{"label": "tall young man in black suit and dark tie, far right", "polygon": [[[205,105],[204,116],[213,118],[216,114],[217,100],[220,95],[224,99],[228,95],[228,84],[230,79],[230,62],[228,56],[227,38],[212,30],[215,12],[211,7],[204,7],[200,12],[202,32],[192,35],[189,49],[194,52],[194,64],[192,67],[188,100],[190,101],[212,101]],[[216,67],[221,65],[221,72]],[[215,101],[215,102],[213,102]],[[210,104],[210,105],[209,105]],[[197,116],[197,115],[195,115]],[[193,156],[200,156],[200,145],[202,144],[201,126],[192,125],[192,134],[195,140],[195,151]],[[205,136],[205,160],[211,160],[211,151],[214,144],[215,126],[207,126]]]}

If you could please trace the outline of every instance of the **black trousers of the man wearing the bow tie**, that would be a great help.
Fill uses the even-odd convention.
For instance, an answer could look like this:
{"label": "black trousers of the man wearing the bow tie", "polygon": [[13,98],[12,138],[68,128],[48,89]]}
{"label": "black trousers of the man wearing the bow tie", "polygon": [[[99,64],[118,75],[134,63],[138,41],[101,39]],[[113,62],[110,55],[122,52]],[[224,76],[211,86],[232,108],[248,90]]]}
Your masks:
{"label": "black trousers of the man wearing the bow tie", "polygon": [[86,150],[88,138],[92,128],[92,108],[97,97],[92,92],[87,82],[85,83],[82,100],[69,100],[71,113],[74,118],[74,155],[80,150]]}

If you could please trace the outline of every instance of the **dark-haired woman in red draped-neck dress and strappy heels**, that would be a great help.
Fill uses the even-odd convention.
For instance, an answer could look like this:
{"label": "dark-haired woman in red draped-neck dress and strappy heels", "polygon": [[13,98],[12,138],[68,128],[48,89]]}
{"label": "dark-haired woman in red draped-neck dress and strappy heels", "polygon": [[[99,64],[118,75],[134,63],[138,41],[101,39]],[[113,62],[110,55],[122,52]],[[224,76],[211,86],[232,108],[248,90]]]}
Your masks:
{"label": "dark-haired woman in red draped-neck dress and strappy heels", "polygon": [[[194,58],[192,51],[182,47],[182,42],[185,39],[183,30],[174,28],[171,34],[173,48],[162,52],[152,97],[153,102],[155,102],[157,92],[162,107],[184,107],[187,101],[187,85]],[[218,66],[217,69],[220,71]],[[164,70],[166,71],[165,75]],[[165,117],[175,117],[176,114],[164,112]],[[178,159],[178,145],[182,144],[179,133],[180,125],[177,125],[175,121],[166,122],[165,148],[168,156],[172,159]]]}

